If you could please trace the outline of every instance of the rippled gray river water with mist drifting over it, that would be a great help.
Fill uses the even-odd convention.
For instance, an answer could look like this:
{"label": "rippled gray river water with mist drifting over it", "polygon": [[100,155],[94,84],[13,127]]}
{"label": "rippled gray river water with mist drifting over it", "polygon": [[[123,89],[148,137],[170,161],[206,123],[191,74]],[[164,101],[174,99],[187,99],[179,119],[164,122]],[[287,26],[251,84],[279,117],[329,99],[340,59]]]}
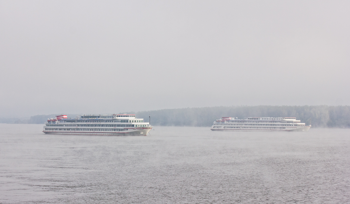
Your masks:
{"label": "rippled gray river water with mist drifting over it", "polygon": [[350,129],[0,130],[0,203],[350,203]]}

